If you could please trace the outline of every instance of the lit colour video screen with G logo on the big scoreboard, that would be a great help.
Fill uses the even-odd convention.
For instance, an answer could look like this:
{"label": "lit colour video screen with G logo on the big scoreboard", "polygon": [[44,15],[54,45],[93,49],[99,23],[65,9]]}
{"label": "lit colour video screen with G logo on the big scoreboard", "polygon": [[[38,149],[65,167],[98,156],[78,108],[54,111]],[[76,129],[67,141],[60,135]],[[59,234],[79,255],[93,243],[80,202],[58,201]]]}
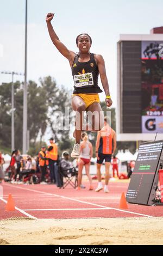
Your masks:
{"label": "lit colour video screen with G logo on the big scoreboard", "polygon": [[142,132],[163,133],[163,41],[142,41]]}

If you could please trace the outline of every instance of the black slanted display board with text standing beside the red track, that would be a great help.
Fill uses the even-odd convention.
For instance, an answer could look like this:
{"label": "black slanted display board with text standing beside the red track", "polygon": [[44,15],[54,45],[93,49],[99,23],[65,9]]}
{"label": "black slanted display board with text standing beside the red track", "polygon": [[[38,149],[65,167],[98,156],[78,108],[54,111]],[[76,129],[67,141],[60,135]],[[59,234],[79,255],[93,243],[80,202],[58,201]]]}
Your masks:
{"label": "black slanted display board with text standing beside the red track", "polygon": [[163,167],[163,141],[145,142],[139,147],[137,159],[126,194],[128,203],[152,205]]}

